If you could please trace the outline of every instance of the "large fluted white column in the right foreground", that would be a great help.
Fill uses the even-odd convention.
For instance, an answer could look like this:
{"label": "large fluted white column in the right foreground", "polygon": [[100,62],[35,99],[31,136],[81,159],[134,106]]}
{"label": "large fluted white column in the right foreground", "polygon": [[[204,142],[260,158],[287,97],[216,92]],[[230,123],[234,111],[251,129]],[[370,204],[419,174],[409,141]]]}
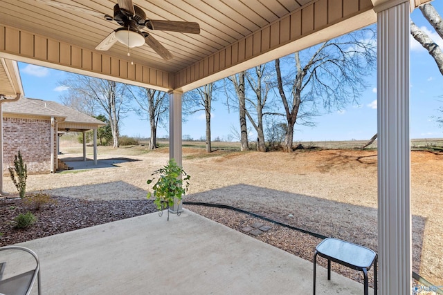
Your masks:
{"label": "large fluted white column in the right foreground", "polygon": [[[374,8],[378,29],[379,294],[411,294],[409,1]],[[394,5],[392,5],[394,3]]]}

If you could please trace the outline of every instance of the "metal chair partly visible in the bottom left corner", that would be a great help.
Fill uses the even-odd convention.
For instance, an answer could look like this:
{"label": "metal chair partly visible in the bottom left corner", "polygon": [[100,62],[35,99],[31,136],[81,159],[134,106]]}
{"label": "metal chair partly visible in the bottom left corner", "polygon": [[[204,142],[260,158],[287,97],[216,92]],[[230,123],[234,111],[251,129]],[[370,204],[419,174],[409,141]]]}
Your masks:
{"label": "metal chair partly visible in the bottom left corner", "polygon": [[37,265],[36,265],[35,269],[30,269],[28,272],[17,274],[15,276],[12,276],[10,278],[6,278],[3,280],[2,279],[3,270],[6,268],[6,262],[2,263],[1,256],[0,256],[0,294],[28,295],[28,294],[30,294],[31,289],[33,289],[35,279],[37,278],[38,294],[42,295],[42,292],[40,291],[40,286],[41,286],[41,284],[40,284],[40,263],[39,263],[39,258],[37,257],[37,254],[35,254],[34,251],[32,251],[26,247],[20,247],[20,246],[6,246],[6,247],[0,248],[0,251],[6,251],[6,250],[8,250],[8,251],[9,250],[25,251],[35,258],[35,262],[37,263]]}

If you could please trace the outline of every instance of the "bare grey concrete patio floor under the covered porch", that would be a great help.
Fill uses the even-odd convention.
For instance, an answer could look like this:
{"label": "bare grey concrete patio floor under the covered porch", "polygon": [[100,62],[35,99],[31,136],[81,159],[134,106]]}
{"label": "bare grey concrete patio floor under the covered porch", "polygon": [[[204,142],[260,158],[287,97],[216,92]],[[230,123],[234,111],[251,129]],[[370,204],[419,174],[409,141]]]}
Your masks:
{"label": "bare grey concrete patio floor under the covered porch", "polygon": [[[311,262],[188,210],[166,214],[19,245],[39,256],[42,294],[312,293]],[[363,285],[335,273],[328,281],[318,267],[317,294],[363,294]]]}

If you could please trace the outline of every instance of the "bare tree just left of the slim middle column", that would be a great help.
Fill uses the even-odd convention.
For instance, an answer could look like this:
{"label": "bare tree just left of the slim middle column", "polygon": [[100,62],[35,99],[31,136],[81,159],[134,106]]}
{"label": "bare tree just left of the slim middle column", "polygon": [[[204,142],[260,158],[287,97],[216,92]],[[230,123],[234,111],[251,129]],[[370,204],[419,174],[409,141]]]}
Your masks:
{"label": "bare tree just left of the slim middle column", "polygon": [[168,115],[168,95],[163,91],[156,91],[149,88],[138,87],[137,94],[131,89],[131,93],[136,100],[138,108],[136,113],[142,117],[147,115],[150,121],[151,138],[149,148],[151,150],[157,148],[157,127],[159,123],[163,123]]}

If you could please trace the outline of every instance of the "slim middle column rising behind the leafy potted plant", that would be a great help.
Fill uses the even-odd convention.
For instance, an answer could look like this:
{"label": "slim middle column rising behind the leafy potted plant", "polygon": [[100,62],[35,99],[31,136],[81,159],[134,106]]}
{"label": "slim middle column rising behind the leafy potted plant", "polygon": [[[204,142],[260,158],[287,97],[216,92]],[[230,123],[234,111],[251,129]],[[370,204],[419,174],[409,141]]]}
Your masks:
{"label": "slim middle column rising behind the leafy potted plant", "polygon": [[[181,152],[181,92],[169,93],[169,158],[182,165]],[[170,212],[181,212],[181,202],[174,203]]]}

